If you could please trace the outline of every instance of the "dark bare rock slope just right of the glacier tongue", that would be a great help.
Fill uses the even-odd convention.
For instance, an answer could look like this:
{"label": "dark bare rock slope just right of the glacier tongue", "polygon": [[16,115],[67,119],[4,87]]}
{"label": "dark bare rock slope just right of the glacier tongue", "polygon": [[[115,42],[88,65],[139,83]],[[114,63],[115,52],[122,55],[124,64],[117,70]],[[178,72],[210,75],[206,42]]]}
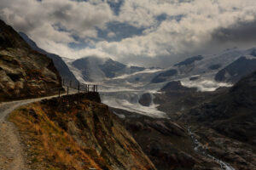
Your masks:
{"label": "dark bare rock slope just right of the glacier tongue", "polygon": [[176,120],[196,105],[224,94],[227,89],[218,88],[214,92],[200,92],[196,88],[184,87],[179,81],[172,81],[160,89],[160,94],[155,94],[154,103],[159,105],[160,111],[166,112],[170,118]]}

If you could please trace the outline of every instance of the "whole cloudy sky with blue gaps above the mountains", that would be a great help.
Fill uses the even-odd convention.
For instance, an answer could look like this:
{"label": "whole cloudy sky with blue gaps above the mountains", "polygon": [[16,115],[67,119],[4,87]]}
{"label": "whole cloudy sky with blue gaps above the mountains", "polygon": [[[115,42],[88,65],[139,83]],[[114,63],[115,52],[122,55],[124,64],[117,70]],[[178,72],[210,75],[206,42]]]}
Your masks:
{"label": "whole cloudy sky with blue gaps above the mountains", "polygon": [[168,66],[256,47],[255,0],[1,0],[0,18],[63,57]]}

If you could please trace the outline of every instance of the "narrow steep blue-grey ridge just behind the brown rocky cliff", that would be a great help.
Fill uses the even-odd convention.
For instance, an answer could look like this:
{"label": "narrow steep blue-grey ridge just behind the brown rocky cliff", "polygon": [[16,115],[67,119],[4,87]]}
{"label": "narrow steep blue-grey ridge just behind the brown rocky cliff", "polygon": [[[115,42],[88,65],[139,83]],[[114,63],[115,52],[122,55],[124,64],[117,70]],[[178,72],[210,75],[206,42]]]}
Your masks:
{"label": "narrow steep blue-grey ridge just behind the brown rocky cliff", "polygon": [[66,82],[68,82],[68,83],[69,83],[69,81],[73,81],[74,84],[78,84],[79,81],[73,75],[73,72],[69,70],[66,63],[61,59],[61,57],[59,55],[50,54],[50,53],[46,52],[44,49],[38,48],[37,43],[32,41],[32,39],[30,37],[28,37],[25,33],[19,32],[19,34],[30,45],[30,47],[33,50],[38,51],[41,54],[45,54],[45,55],[47,55],[47,57],[49,57],[50,59],[53,60],[55,67],[59,71],[62,79],[66,80]]}

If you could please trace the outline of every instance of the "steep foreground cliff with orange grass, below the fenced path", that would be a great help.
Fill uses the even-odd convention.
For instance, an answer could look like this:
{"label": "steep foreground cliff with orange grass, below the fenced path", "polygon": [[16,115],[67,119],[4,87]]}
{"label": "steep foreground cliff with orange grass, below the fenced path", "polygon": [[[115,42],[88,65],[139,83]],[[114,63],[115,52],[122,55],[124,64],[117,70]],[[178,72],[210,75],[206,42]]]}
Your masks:
{"label": "steep foreground cliff with orange grass, below the fenced path", "polygon": [[21,107],[19,127],[32,169],[155,169],[97,93],[74,94]]}

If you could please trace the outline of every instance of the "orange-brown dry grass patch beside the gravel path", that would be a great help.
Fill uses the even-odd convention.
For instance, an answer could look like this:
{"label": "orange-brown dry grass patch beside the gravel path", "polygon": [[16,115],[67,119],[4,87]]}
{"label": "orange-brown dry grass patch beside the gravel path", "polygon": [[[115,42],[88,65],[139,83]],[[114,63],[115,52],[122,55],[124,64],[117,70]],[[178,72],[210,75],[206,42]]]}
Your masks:
{"label": "orange-brown dry grass patch beside the gravel path", "polygon": [[23,142],[31,146],[27,151],[32,167],[101,169],[68,133],[49,120],[40,105],[21,107],[9,116],[9,120],[19,127],[21,135],[25,137]]}

